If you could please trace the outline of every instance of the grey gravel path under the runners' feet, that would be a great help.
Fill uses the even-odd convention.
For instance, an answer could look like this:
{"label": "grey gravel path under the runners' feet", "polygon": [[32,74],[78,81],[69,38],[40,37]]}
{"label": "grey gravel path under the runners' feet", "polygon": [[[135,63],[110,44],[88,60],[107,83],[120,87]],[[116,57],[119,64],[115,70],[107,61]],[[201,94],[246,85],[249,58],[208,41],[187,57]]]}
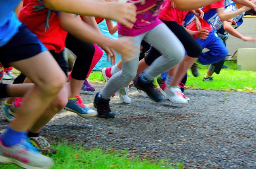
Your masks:
{"label": "grey gravel path under the runners' feet", "polygon": [[[92,84],[99,91],[103,84]],[[83,101],[93,108],[96,92]],[[150,100],[130,89],[131,104],[116,94],[111,99],[114,119],[81,118],[62,111],[42,131],[50,140],[83,142],[84,146],[128,150],[131,155],[168,158],[188,168],[256,167],[256,94],[186,90],[189,104]],[[3,101],[0,102],[1,108]],[[1,110],[2,111],[2,110]],[[8,124],[0,116],[0,130]]]}

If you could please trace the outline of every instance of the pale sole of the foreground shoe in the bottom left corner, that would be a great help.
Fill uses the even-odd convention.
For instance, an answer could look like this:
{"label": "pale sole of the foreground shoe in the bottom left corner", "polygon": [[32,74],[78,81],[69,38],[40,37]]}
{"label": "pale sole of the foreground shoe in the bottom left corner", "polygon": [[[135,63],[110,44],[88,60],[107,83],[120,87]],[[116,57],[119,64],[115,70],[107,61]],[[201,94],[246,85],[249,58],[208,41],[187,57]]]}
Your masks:
{"label": "pale sole of the foreground shoe in the bottom left corner", "polygon": [[0,155],[0,163],[5,163],[5,164],[12,163],[12,164],[16,164],[17,166],[20,166],[22,168],[25,168],[25,169],[50,169],[54,165],[54,162],[52,160],[52,164],[46,163],[45,166],[43,166],[43,167],[29,166],[28,164],[25,164],[19,160],[5,157],[2,155]]}

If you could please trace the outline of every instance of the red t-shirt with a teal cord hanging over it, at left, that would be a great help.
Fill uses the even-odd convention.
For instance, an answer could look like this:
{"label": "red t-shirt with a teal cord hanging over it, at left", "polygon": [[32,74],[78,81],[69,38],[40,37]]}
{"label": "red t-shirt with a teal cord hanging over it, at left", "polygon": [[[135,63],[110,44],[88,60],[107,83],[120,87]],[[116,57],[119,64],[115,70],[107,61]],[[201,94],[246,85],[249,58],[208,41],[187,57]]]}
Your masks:
{"label": "red t-shirt with a teal cord hanging over it, at left", "polygon": [[49,28],[45,32],[45,24],[48,9],[35,11],[35,5],[42,5],[36,0],[24,0],[24,6],[19,14],[19,20],[25,23],[30,31],[38,36],[38,39],[48,50],[55,50],[60,53],[65,48],[67,32],[61,27],[58,14],[51,11],[49,18]]}

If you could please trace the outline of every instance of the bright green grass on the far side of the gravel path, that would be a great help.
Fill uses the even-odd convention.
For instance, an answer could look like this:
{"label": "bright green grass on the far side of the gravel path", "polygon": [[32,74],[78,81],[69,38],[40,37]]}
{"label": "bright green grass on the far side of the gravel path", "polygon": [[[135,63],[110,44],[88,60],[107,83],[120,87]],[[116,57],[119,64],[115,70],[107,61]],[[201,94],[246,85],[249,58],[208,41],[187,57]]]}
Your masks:
{"label": "bright green grass on the far side of the gravel path", "polygon": [[[235,61],[225,61],[225,65],[230,69],[222,69],[220,74],[213,74],[214,80],[212,82],[204,82],[202,78],[207,72],[208,65],[198,64],[199,76],[193,77],[189,70],[189,77],[186,87],[190,89],[202,90],[238,90],[255,92],[256,91],[256,72],[237,70],[237,63]],[[88,78],[89,81],[104,82],[101,72],[92,72]]]}

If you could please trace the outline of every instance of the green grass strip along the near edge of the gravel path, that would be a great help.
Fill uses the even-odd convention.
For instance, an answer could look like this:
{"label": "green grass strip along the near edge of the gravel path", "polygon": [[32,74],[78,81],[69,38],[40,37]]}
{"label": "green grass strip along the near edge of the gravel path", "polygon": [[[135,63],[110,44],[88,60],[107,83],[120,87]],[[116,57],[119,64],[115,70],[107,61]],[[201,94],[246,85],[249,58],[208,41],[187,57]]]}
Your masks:
{"label": "green grass strip along the near edge of the gravel path", "polygon": [[[53,169],[182,169],[183,165],[172,166],[168,160],[154,162],[149,159],[131,157],[128,152],[101,149],[85,149],[80,145],[59,143],[53,146],[57,154],[52,156],[55,162]],[[1,169],[20,169],[14,164],[0,164]]]}

